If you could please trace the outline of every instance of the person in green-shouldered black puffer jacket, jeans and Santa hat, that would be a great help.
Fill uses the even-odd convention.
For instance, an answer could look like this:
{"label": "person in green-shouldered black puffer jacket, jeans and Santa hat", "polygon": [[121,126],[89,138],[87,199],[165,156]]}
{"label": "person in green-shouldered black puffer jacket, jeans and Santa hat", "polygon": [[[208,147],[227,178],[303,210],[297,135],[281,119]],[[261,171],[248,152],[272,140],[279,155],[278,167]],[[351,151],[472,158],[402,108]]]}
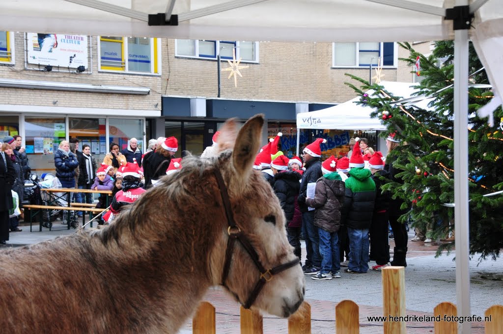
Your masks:
{"label": "person in green-shouldered black puffer jacket, jeans and Santa hat", "polygon": [[360,145],[357,141],[349,160],[351,171],[346,180],[343,214],[348,226],[350,254],[347,273],[366,273],[369,270],[369,228],[374,213],[376,186],[364,169]]}

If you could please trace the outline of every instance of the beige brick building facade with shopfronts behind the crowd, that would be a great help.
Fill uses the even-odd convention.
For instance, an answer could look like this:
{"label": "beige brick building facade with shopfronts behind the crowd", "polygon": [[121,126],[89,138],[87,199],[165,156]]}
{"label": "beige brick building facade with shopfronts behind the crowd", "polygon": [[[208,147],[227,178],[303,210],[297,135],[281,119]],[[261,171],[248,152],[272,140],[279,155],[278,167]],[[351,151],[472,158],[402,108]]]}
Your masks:
{"label": "beige brick building facade with shopfronts behind the crowd", "polygon": [[[429,50],[430,43],[418,44]],[[427,53],[427,51],[420,51]],[[233,53],[241,58],[232,74]],[[295,115],[355,97],[345,73],[383,80],[413,80],[398,61],[396,43],[281,43],[197,41],[0,32],[0,136],[19,134],[38,172],[54,171],[52,153],[61,140],[89,143],[101,160],[111,142],[121,148],[136,137],[144,151],[150,138],[176,136],[183,150],[199,154],[229,117],[264,113],[266,137],[282,132],[282,148],[295,151]],[[217,59],[220,57],[220,62]],[[220,66],[218,65],[220,63]],[[218,73],[221,73],[220,79]],[[303,131],[313,136],[375,133]],[[342,153],[347,143],[343,140]]]}

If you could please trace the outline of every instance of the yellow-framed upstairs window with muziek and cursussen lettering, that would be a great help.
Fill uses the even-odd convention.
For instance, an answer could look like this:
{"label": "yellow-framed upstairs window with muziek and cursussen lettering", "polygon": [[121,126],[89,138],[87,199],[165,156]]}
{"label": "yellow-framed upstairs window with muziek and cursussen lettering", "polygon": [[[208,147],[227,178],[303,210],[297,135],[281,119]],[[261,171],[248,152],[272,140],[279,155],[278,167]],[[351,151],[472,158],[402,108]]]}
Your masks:
{"label": "yellow-framed upstairs window with muziek and cursussen lettering", "polygon": [[160,74],[160,39],[100,36],[100,70]]}

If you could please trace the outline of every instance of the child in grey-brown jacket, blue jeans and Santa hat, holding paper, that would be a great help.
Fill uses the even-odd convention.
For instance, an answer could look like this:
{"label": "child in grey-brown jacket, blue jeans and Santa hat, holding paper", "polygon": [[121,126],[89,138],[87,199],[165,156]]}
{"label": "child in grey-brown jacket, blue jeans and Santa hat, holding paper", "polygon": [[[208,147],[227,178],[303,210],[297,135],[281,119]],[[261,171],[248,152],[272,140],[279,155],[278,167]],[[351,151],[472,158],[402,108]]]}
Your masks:
{"label": "child in grey-brown jacket, blue jeans and Santa hat, holding paper", "polygon": [[344,203],[345,186],[337,173],[337,159],[333,155],[323,161],[323,177],[316,182],[314,198],[306,198],[306,204],[316,208],[314,225],[318,227],[321,270],[313,280],[331,280],[341,277],[339,237],[341,208]]}

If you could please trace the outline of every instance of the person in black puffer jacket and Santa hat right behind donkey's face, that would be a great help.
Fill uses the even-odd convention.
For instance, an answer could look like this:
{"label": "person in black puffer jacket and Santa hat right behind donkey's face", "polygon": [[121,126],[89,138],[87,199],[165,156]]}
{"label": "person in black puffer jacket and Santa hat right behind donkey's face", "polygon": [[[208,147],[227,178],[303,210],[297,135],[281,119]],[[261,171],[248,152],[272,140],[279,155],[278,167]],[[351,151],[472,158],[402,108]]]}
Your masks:
{"label": "person in black puffer jacket and Santa hat right behind donkey's face", "polygon": [[289,161],[290,159],[286,156],[280,155],[271,162],[271,170],[274,173],[273,190],[285,213],[288,242],[293,246],[293,252],[300,260],[302,216],[296,215],[295,211],[298,208],[297,197],[299,196],[301,176],[295,171],[288,170]]}

